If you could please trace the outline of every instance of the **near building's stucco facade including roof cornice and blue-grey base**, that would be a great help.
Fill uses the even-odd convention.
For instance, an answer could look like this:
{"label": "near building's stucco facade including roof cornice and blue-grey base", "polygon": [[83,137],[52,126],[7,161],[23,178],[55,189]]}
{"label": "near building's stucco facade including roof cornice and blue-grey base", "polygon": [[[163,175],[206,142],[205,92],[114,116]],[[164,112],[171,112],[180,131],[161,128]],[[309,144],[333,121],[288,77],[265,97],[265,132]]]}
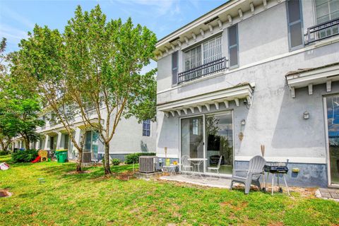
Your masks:
{"label": "near building's stucco facade including roof cornice and blue-grey base", "polygon": [[[237,5],[237,1],[235,2]],[[306,33],[307,28],[316,24],[314,2],[302,1],[301,6],[303,33]],[[265,145],[264,157],[268,162],[289,162],[290,169],[300,169],[298,173],[288,173],[289,184],[322,187],[331,184],[328,180],[328,133],[324,97],[337,95],[339,83],[333,81],[331,91],[326,89],[326,82],[314,84],[311,86],[311,95],[307,85],[298,87],[295,88],[295,97],[292,97],[291,85],[287,83],[285,76],[297,69],[316,68],[339,62],[339,35],[290,51],[285,1],[268,1],[266,9],[263,5],[258,5],[254,13],[243,9],[242,18],[239,18],[239,15],[233,16],[237,7],[242,6],[225,4],[224,14],[218,13],[217,10],[211,11],[210,14],[198,18],[194,25],[186,25],[177,30],[177,33],[169,35],[168,39],[173,39],[174,36],[184,37],[189,32],[196,32],[198,28],[205,29],[204,35],[196,32],[196,40],[191,38],[188,43],[183,42],[181,47],[175,46],[173,51],[163,52],[158,56],[157,155],[165,157],[166,147],[167,157],[181,157],[182,118],[229,111],[232,112],[235,168],[246,167],[251,157],[261,155],[260,147]],[[230,22],[223,20],[221,29],[215,23],[213,34],[203,23],[213,16],[222,20],[227,16],[225,12],[232,15],[232,25],[238,26],[239,66],[187,83],[172,85],[172,52],[179,52],[179,72],[182,72],[185,49],[220,32],[222,56],[229,56],[227,28],[230,27]],[[159,51],[166,45],[171,49],[171,46],[165,43],[166,38],[159,41]],[[209,109],[202,105],[201,112],[195,105],[191,105],[195,109],[194,113],[178,107],[181,115],[175,112],[174,107],[163,107],[180,103],[182,100],[203,98],[204,95],[227,90],[240,83],[249,83],[254,88],[251,105],[244,105],[246,98],[239,100],[239,106],[234,101],[230,101],[229,106],[226,106],[220,99],[215,100],[220,101],[218,105],[208,103]],[[174,116],[169,114],[171,111],[174,111]],[[304,119],[304,112],[309,113],[309,119]],[[240,133],[243,134],[242,140],[239,138]]]}

